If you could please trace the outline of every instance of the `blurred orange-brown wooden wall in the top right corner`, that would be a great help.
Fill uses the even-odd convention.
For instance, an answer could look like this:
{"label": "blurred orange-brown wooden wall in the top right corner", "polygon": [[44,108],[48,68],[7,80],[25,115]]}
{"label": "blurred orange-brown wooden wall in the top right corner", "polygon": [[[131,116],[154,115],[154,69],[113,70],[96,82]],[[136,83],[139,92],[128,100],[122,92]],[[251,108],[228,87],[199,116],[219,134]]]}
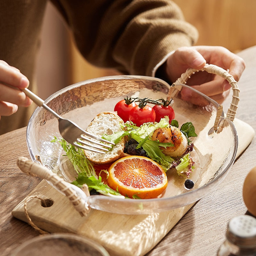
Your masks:
{"label": "blurred orange-brown wooden wall in the top right corner", "polygon": [[174,0],[199,31],[197,45],[237,52],[256,44],[255,0]]}

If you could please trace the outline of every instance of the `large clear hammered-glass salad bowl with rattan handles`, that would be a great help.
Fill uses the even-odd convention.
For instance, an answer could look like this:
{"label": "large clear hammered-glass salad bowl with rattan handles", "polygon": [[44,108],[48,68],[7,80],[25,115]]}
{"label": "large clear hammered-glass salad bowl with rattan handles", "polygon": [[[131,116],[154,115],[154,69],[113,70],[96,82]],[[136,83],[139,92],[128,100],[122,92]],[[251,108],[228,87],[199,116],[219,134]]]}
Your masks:
{"label": "large clear hammered-glass salad bowl with rattan handles", "polygon": [[[103,195],[87,197],[93,209],[121,214],[150,214],[195,203],[209,194],[225,178],[235,161],[238,139],[232,121],[222,115],[218,132],[213,125],[219,104],[186,85],[175,85],[179,90],[172,99],[175,119],[179,124],[192,122],[197,137],[192,138],[192,156],[196,162],[191,179],[193,189],[186,189],[184,179],[175,172],[167,172],[166,191],[154,199],[120,199]],[[45,103],[59,115],[86,128],[91,120],[104,111],[113,111],[115,104],[126,97],[166,98],[170,85],[161,79],[147,76],[107,76],[70,85],[52,94]],[[188,97],[189,95],[189,97]],[[59,143],[58,120],[44,108],[38,107],[27,127],[30,157],[58,173],[68,182],[73,181],[72,167],[63,160]]]}

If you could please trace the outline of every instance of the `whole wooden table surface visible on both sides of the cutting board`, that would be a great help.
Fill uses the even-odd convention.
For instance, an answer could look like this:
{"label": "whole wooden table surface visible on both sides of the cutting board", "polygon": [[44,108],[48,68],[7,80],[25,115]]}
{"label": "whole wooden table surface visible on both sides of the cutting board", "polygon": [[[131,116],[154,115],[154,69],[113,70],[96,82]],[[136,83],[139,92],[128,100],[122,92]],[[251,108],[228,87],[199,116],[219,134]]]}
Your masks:
{"label": "whole wooden table surface visible on both sides of the cutting board", "polygon": [[[240,102],[236,117],[256,130],[256,46],[238,55],[245,60],[246,69],[238,83]],[[230,102],[228,97],[223,104],[224,112]],[[199,200],[147,256],[216,255],[225,239],[228,221],[247,211],[242,188],[247,173],[256,166],[255,142],[253,138],[226,179],[210,195]],[[39,235],[27,223],[12,217],[11,212],[41,179],[28,177],[16,165],[19,156],[29,158],[25,127],[1,135],[0,146],[0,255],[4,256]]]}

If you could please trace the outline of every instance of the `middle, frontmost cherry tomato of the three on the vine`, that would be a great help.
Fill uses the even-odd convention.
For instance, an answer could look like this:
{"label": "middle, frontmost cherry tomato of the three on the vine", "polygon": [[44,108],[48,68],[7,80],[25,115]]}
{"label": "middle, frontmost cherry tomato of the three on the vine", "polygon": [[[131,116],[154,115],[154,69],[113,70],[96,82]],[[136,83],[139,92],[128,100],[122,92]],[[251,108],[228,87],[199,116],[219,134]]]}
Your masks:
{"label": "middle, frontmost cherry tomato of the three on the vine", "polygon": [[129,115],[129,121],[137,126],[148,122],[155,122],[156,113],[155,110],[148,105],[140,108],[139,105],[132,108]]}

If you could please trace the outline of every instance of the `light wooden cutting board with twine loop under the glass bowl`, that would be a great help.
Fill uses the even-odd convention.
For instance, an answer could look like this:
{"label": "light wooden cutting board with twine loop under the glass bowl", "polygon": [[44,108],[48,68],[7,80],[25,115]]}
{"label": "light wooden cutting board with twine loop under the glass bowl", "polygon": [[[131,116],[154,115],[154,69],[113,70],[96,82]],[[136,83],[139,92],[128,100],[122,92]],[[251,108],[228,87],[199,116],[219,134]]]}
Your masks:
{"label": "light wooden cutting board with twine loop under the glass bowl", "polygon": [[[237,158],[250,144],[255,131],[239,119],[235,119],[234,124],[238,135]],[[111,256],[145,255],[193,205],[149,215],[113,214],[92,209],[87,217],[81,217],[68,198],[45,180],[28,196],[54,201],[50,207],[43,207],[37,198],[28,201],[29,217],[37,227],[50,233],[71,232],[89,237],[103,245]],[[24,211],[26,199],[13,209],[12,215],[28,222]]]}

